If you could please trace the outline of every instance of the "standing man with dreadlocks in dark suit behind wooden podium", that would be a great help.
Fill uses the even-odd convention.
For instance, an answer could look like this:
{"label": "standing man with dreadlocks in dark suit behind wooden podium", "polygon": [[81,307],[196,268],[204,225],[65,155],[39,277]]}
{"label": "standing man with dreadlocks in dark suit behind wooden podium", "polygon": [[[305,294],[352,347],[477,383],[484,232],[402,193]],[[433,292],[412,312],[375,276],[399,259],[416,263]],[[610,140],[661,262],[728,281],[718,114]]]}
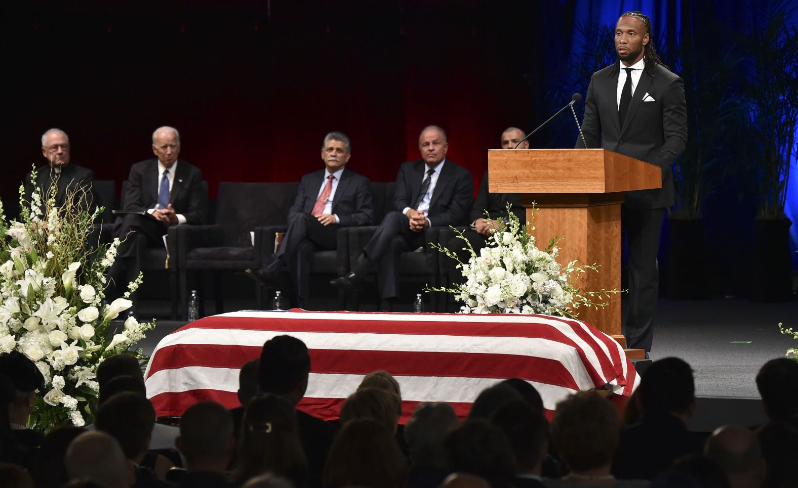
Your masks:
{"label": "standing man with dreadlocks in dark suit behind wooden podium", "polygon": [[[588,148],[605,148],[662,168],[662,188],[630,191],[622,206],[629,242],[630,348],[651,350],[657,308],[657,251],[665,209],[674,204],[671,163],[687,144],[684,82],[660,61],[651,21],[626,12],[615,26],[618,62],[593,73],[582,132]],[[585,144],[579,139],[577,148]]]}

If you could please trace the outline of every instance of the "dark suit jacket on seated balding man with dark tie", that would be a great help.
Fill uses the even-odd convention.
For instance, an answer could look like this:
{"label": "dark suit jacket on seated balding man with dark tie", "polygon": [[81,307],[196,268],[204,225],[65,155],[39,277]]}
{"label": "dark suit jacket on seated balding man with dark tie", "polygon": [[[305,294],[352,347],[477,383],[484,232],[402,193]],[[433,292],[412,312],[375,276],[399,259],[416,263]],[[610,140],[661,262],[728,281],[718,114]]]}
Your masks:
{"label": "dark suit jacket on seated balding man with dark tie", "polygon": [[[413,207],[421,192],[427,165],[423,159],[402,163],[397,174],[393,193],[393,208],[403,211]],[[446,159],[435,183],[433,198],[429,202],[427,218],[433,226],[460,226],[465,224],[474,200],[474,179],[471,172]]]}

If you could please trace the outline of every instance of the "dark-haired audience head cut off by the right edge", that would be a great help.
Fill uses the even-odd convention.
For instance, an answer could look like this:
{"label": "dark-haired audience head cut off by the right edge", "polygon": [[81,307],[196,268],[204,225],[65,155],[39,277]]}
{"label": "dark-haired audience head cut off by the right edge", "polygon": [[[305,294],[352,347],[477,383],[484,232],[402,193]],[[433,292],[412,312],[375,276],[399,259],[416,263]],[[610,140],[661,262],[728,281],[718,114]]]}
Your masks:
{"label": "dark-haired audience head cut off by the right edge", "polygon": [[798,363],[786,357],[769,360],[757,373],[757,389],[771,420],[798,415]]}

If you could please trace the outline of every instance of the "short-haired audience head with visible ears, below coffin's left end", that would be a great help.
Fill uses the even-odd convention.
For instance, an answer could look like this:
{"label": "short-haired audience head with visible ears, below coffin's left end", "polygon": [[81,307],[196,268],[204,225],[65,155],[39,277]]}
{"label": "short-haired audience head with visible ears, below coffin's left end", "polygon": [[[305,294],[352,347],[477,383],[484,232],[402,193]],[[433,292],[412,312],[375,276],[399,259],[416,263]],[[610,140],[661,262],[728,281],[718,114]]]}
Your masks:
{"label": "short-haired audience head with visible ears, below coffin's left end", "polygon": [[224,473],[233,443],[233,419],[219,403],[195,403],[180,417],[180,436],[175,444],[185,456],[189,472]]}

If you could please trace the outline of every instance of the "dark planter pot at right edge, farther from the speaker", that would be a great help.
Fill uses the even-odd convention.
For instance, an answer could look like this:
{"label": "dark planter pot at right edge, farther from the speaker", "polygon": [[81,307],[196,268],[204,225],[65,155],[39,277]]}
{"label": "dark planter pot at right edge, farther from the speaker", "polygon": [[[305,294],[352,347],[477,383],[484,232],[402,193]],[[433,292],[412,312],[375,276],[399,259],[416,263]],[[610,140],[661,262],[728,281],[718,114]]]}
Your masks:
{"label": "dark planter pot at right edge, farther from the speaker", "polygon": [[757,218],[754,222],[750,284],[753,301],[794,299],[789,246],[791,225],[792,222],[786,217]]}

